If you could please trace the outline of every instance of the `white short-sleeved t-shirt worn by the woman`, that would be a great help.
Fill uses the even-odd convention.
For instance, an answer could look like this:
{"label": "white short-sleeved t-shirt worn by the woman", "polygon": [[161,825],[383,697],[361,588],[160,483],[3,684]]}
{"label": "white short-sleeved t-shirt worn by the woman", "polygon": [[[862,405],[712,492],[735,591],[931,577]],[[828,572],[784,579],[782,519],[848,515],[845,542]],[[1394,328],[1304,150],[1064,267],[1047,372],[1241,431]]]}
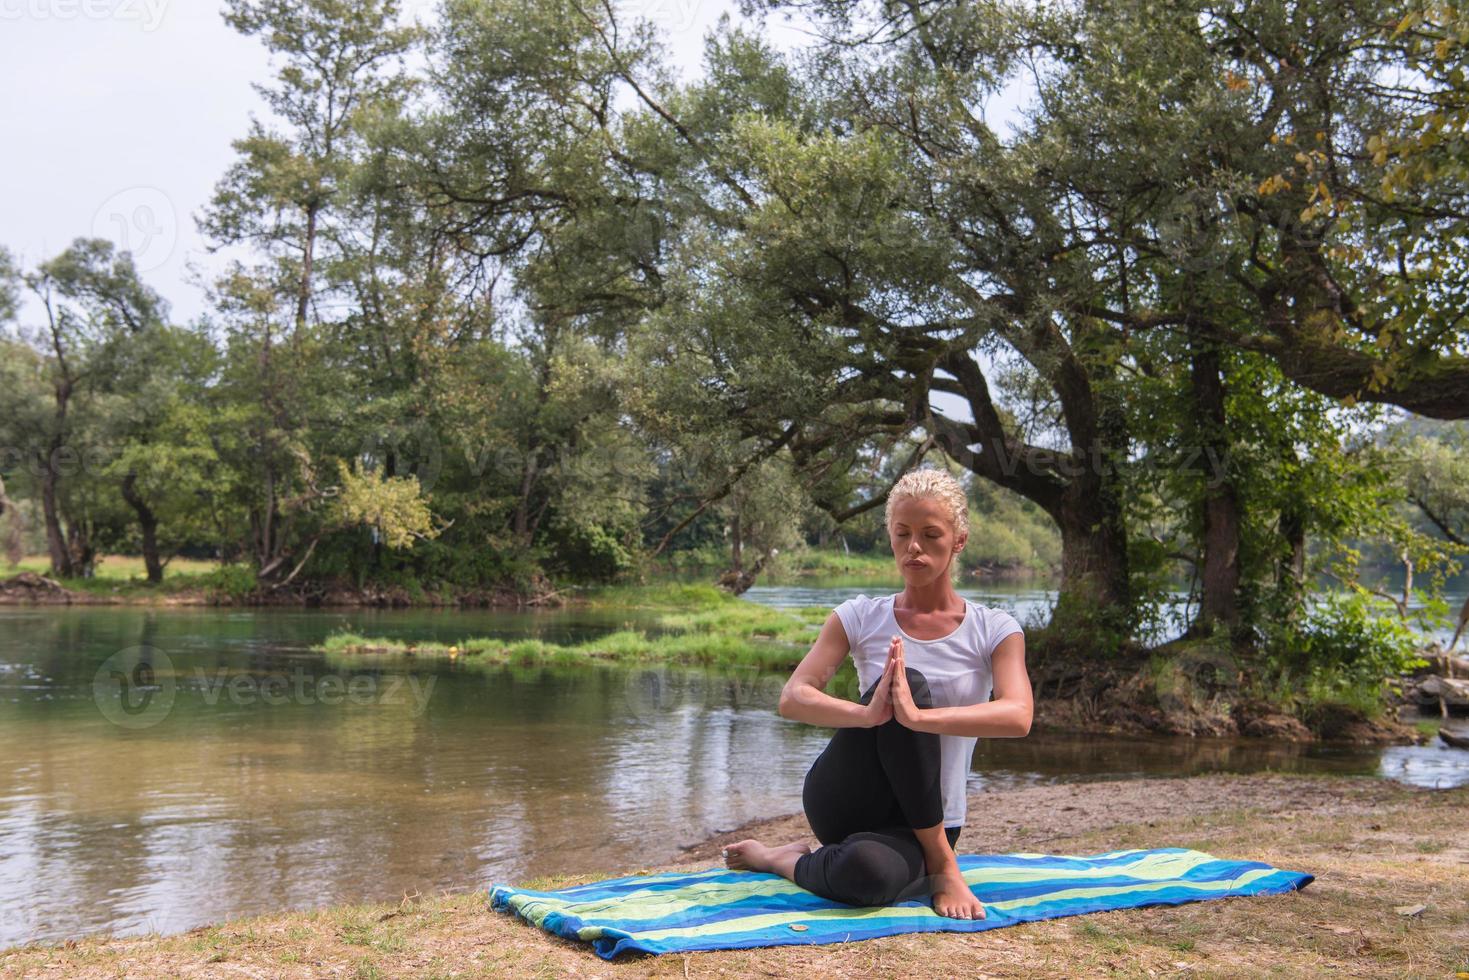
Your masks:
{"label": "white short-sleeved t-shirt worn by the woman", "polygon": [[[893,616],[893,599],[898,595],[858,595],[836,607],[856,666],[859,693],[867,692],[883,676],[887,644],[898,633],[903,638],[903,661],[928,680],[934,707],[952,708],[989,701],[995,686],[990,655],[1002,639],[1024,632],[1015,617],[964,599],[968,608],[958,629],[939,639],[917,639],[898,626],[898,617]],[[965,779],[974,763],[977,742],[972,736],[939,736],[945,827],[964,826],[970,802]]]}

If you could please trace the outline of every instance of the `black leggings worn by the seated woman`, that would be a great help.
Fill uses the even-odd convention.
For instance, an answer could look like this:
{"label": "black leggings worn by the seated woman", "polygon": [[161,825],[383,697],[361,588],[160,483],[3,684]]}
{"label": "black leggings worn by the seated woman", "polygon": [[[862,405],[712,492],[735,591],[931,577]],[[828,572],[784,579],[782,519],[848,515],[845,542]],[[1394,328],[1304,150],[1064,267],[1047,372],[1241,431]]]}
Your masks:
{"label": "black leggings worn by the seated woman", "polygon": [[[870,704],[877,685],[862,695]],[[908,667],[914,704],[931,707],[927,679]],[[796,860],[795,882],[846,905],[892,905],[927,896],[928,871],[914,827],[943,820],[939,736],[898,718],[837,729],[806,773],[802,802],[817,840]],[[952,848],[959,827],[945,827]]]}

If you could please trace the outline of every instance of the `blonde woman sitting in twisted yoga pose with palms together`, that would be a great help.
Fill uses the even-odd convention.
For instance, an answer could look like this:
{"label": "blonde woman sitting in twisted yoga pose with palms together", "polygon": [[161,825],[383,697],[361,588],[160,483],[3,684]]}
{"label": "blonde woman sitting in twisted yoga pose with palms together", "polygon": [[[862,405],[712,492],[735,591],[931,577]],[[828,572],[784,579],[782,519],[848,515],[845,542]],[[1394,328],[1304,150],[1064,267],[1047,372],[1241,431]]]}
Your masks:
{"label": "blonde woman sitting in twisted yoga pose with palms together", "polygon": [[[782,717],[836,729],[802,790],[821,846],[740,840],[724,862],[849,905],[931,895],[940,915],[984,918],[953,846],[975,742],[1030,732],[1025,636],[1008,613],[953,591],[970,536],[953,476],[903,475],[886,517],[903,591],[837,605],[780,695]],[[823,691],[849,652],[864,689],[858,702]]]}

